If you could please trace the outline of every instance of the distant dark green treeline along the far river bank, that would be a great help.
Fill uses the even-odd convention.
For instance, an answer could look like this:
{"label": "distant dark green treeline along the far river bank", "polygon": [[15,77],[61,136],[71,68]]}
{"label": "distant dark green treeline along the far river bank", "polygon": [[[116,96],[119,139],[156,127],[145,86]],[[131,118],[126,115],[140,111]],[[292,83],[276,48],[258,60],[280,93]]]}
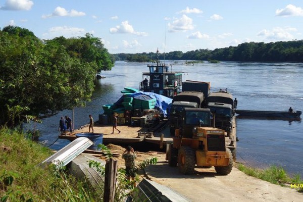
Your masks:
{"label": "distant dark green treeline along the far river bank", "polygon": [[[137,61],[137,58],[157,60],[156,53],[114,54],[115,60]],[[159,55],[164,60],[164,53]],[[173,51],[165,54],[165,60],[218,60],[239,62],[303,62],[303,40],[278,41],[271,43],[246,42],[238,46],[209,49],[197,49],[182,53]]]}

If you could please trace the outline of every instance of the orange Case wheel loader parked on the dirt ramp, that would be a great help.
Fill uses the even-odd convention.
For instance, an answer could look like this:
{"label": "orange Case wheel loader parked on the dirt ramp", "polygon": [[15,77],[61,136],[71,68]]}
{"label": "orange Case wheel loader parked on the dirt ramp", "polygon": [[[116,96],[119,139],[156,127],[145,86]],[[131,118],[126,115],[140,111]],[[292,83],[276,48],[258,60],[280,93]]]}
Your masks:
{"label": "orange Case wheel loader parked on the dirt ramp", "polygon": [[214,166],[221,175],[231,172],[233,158],[225,145],[225,131],[210,124],[210,109],[184,108],[181,127],[166,154],[169,166],[178,166],[183,174],[192,174],[195,165]]}

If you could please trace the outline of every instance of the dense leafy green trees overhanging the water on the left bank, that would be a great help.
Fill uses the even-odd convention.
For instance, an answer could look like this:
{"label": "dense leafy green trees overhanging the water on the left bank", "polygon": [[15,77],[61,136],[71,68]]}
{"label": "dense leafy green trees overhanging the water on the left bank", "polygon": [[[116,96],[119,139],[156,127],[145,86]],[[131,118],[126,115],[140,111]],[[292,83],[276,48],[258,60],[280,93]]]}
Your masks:
{"label": "dense leafy green trees overhanging the water on the left bank", "polygon": [[99,38],[41,40],[30,30],[0,30],[0,125],[16,126],[90,100],[97,72],[114,58]]}

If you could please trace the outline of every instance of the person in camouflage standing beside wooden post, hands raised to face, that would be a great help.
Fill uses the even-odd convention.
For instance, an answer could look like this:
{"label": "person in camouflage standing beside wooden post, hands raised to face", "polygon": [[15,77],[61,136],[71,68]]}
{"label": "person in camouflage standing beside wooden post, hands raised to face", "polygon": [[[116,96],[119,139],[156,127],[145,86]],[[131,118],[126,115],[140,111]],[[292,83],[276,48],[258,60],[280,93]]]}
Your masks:
{"label": "person in camouflage standing beside wooden post, hands raised to face", "polygon": [[134,186],[136,187],[136,162],[135,159],[137,155],[131,146],[127,146],[124,153],[122,154],[122,159],[125,160],[125,176],[127,180],[130,178],[134,181]]}

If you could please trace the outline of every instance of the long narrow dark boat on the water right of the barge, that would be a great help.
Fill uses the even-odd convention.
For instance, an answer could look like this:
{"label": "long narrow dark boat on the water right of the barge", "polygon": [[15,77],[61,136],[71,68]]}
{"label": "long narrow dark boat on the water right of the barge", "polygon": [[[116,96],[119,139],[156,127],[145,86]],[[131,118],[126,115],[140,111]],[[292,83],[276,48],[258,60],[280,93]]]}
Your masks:
{"label": "long narrow dark boat on the water right of the barge", "polygon": [[268,117],[268,118],[286,118],[297,119],[301,116],[301,111],[283,112],[283,111],[254,111],[254,110],[235,110],[235,113],[243,117]]}

